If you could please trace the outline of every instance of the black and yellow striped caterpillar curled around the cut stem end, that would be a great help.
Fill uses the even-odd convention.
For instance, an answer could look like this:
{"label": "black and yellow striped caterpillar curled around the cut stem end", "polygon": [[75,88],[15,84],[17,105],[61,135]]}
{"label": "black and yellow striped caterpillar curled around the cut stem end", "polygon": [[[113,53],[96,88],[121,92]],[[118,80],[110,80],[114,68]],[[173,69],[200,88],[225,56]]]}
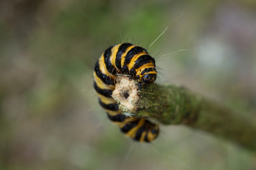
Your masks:
{"label": "black and yellow striped caterpillar curled around the cut stem end", "polygon": [[155,59],[140,46],[130,43],[113,45],[97,60],[93,73],[93,86],[109,120],[135,141],[153,141],[159,134],[159,125],[144,118],[122,115],[112,99],[116,74],[127,74],[137,79],[139,88],[146,87],[156,80]]}

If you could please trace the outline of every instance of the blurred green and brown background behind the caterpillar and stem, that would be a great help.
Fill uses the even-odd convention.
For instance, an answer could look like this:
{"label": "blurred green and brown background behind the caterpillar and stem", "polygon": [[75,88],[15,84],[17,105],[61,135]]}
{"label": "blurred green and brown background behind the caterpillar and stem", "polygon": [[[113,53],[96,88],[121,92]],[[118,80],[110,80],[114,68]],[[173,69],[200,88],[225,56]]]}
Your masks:
{"label": "blurred green and brown background behind the caterpillar and stem", "polygon": [[149,51],[189,50],[157,59],[161,83],[255,117],[256,1],[2,0],[0,169],[256,169],[249,151],[183,126],[134,143],[99,107],[102,51],[146,47],[172,20]]}

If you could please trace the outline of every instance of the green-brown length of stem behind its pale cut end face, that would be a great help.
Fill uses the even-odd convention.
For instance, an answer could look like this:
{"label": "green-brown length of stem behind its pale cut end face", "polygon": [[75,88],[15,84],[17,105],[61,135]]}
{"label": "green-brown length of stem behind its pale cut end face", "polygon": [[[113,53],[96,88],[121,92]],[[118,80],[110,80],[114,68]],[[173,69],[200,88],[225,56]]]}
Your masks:
{"label": "green-brown length of stem behind its pale cut end face", "polygon": [[256,151],[256,122],[252,119],[176,85],[153,84],[137,92],[141,99],[136,112],[130,114],[150,117],[165,125],[197,128]]}

